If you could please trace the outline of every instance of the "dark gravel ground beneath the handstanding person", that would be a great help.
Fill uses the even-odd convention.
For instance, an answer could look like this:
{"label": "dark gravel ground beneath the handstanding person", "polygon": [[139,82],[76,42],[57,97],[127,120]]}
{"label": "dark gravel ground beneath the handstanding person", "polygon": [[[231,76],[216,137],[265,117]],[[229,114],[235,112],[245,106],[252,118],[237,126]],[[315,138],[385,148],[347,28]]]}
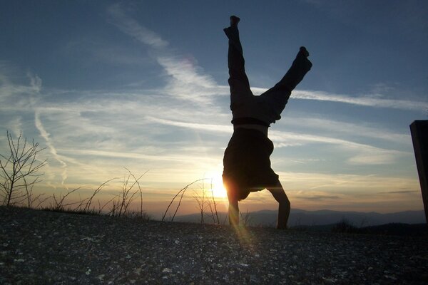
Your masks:
{"label": "dark gravel ground beneath the handstanding person", "polygon": [[0,284],[428,284],[427,237],[0,207]]}

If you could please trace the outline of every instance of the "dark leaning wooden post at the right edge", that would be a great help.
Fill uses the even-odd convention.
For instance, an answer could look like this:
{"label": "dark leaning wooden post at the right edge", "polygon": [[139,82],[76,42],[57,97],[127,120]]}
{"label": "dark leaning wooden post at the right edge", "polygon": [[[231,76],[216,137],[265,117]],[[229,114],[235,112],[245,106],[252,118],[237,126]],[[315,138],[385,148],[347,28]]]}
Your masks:
{"label": "dark leaning wooden post at the right edge", "polygon": [[428,223],[428,120],[415,120],[410,125],[410,133],[424,201],[425,219]]}

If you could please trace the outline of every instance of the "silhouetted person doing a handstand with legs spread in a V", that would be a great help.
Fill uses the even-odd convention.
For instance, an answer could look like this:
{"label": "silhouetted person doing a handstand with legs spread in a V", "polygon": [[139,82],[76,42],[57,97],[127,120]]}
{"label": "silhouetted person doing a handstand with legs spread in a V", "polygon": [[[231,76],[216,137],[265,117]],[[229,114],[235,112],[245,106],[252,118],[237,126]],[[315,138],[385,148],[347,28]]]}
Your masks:
{"label": "silhouetted person doing a handstand with legs spread in a V", "polygon": [[228,68],[230,110],[233,114],[233,135],[223,158],[223,182],[228,192],[229,222],[239,223],[238,201],[250,192],[269,190],[279,203],[277,228],[285,229],[290,214],[290,201],[285,195],[278,175],[270,167],[272,141],[267,138],[267,128],[280,120],[281,112],[290,98],[291,91],[310,71],[309,53],[301,47],[285,76],[273,88],[255,96],[245,74],[243,48],[240,43],[237,16],[230,17],[230,27],[225,28],[229,38]]}

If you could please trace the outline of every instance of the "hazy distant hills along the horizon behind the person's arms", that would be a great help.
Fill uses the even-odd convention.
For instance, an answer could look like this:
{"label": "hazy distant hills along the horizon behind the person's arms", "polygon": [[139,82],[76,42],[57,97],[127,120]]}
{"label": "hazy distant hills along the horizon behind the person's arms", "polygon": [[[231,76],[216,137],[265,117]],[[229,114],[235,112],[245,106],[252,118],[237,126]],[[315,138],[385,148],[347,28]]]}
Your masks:
{"label": "hazy distant hills along the horizon behind the person's arms", "polygon": [[[218,213],[220,224],[226,219],[225,213]],[[243,213],[243,217],[248,220],[251,226],[275,227],[277,211],[262,210],[258,212]],[[188,214],[175,217],[176,222],[200,222],[200,214]],[[292,209],[290,213],[289,226],[323,226],[337,224],[346,221],[355,227],[370,227],[379,224],[424,224],[424,211],[405,211],[388,214],[377,212],[340,212],[327,209],[318,211],[306,211],[302,209]],[[211,214],[204,215],[205,223],[213,223]]]}

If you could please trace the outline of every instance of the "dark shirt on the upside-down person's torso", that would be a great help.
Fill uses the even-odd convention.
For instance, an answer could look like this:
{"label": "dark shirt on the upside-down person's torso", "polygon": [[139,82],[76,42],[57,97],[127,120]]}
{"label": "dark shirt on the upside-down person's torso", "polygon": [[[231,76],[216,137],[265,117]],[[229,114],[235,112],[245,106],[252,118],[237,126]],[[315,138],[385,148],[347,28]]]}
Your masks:
{"label": "dark shirt on the upside-down person's torso", "polygon": [[270,167],[272,152],[272,141],[258,130],[235,130],[223,157],[223,183],[228,195],[241,200],[250,192],[277,186],[278,175]]}

